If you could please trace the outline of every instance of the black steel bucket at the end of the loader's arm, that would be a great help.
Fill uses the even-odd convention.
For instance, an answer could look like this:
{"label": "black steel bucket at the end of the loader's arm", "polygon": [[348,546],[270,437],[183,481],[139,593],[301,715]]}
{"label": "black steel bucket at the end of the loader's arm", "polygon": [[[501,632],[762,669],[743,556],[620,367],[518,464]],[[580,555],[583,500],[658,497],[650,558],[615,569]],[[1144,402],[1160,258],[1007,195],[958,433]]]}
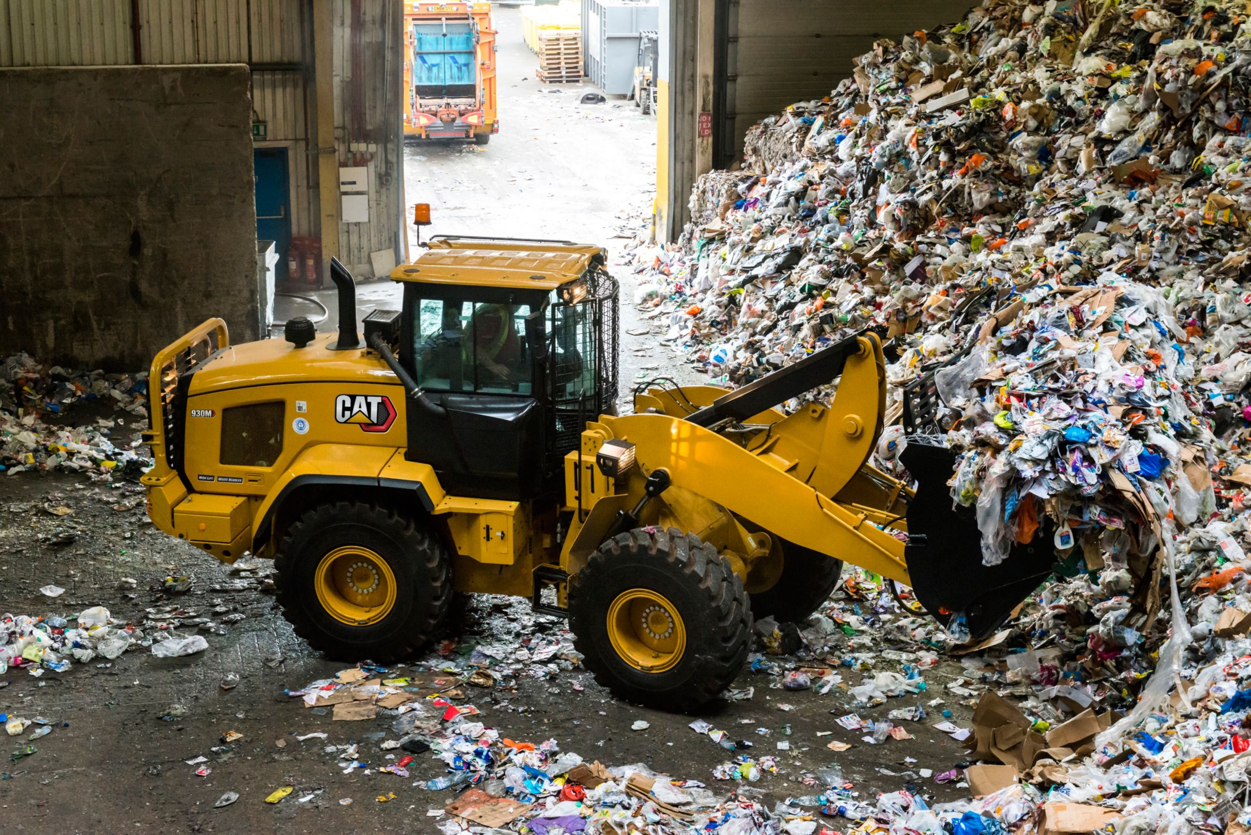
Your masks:
{"label": "black steel bucket at the end of the loader's arm", "polygon": [[1046,521],[1032,542],[1015,545],[998,565],[982,565],[975,510],[955,504],[947,486],[955,454],[909,438],[899,458],[917,480],[903,550],[912,590],[943,625],[963,612],[972,640],[987,638],[1051,574],[1055,526]]}

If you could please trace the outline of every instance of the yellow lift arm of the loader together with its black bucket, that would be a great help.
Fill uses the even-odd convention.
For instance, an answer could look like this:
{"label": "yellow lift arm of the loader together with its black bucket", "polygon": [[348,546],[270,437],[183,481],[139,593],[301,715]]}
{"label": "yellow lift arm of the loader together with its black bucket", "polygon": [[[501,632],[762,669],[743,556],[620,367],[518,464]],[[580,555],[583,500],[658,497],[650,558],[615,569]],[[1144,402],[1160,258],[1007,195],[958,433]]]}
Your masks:
{"label": "yellow lift arm of the loader together with its black bucket", "polygon": [[[828,408],[773,410],[838,378]],[[674,485],[771,536],[908,585],[943,624],[963,615],[973,640],[992,634],[1055,562],[1050,548],[1018,545],[1000,565],[982,565],[976,518],[947,491],[950,450],[909,445],[902,460],[916,491],[868,465],[886,411],[884,358],[872,332],[734,391],[653,389],[641,401],[653,414],[602,421],[636,444],[644,476],[664,468]]]}

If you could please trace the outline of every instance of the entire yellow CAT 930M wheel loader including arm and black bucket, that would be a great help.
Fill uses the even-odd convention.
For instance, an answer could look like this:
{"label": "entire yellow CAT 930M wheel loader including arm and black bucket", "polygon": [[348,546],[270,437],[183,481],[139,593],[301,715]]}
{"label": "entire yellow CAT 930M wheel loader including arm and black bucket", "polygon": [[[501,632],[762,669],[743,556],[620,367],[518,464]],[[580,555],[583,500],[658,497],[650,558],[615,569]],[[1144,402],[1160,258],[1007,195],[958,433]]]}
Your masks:
{"label": "entire yellow CAT 930M wheel loader including arm and black bucket", "polygon": [[[617,415],[604,250],[439,236],[395,269],[403,309],[231,345],[210,319],[153,360],[148,512],[225,562],[273,558],[298,635],[343,660],[410,658],[454,592],[568,614],[598,681],[686,709],[721,692],[753,615],[802,621],[842,561],[990,632],[1051,554],[982,566],[951,452],[914,440],[916,491],[867,464],[883,354],[859,334],[734,391],[648,385]],[[779,404],[838,379],[831,406]],[[932,392],[914,390],[923,414]]]}

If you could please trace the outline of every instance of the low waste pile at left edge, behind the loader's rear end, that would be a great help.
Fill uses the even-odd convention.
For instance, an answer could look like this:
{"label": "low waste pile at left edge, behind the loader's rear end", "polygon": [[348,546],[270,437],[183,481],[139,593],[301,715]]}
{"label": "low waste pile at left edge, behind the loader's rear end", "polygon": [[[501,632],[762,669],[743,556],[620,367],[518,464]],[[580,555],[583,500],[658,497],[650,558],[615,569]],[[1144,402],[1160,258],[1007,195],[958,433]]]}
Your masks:
{"label": "low waste pile at left edge, behind the loader's rear end", "polygon": [[[108,400],[129,419],[98,418],[75,426],[66,420],[71,404]],[[138,478],[149,459],[138,441],[120,441],[128,421],[134,430],[146,420],[144,376],[45,368],[26,354],[4,361],[0,372],[0,472],[70,470],[96,479],[119,472]],[[120,469],[119,469],[120,468]]]}

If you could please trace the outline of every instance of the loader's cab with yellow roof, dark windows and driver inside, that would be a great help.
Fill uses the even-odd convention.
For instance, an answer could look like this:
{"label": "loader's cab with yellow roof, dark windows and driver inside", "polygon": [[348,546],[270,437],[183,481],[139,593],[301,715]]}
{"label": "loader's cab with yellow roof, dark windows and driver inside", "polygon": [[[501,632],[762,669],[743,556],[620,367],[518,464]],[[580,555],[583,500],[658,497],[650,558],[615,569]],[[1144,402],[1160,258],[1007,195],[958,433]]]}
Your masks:
{"label": "loader's cab with yellow roof, dark windows and driver inside", "polygon": [[403,281],[408,451],[453,494],[525,501],[559,484],[617,398],[617,284],[603,250],[435,238]]}

